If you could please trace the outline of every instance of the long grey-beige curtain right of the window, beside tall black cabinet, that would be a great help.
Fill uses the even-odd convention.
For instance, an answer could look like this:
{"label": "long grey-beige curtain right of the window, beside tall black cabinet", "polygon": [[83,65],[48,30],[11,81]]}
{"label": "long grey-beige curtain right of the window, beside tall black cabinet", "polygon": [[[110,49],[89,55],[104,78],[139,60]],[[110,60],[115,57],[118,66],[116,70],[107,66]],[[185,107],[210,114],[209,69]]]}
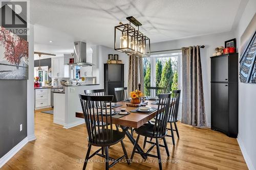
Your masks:
{"label": "long grey-beige curtain right of the window, beside tall black cabinet", "polygon": [[184,124],[207,127],[200,46],[182,49],[182,118]]}

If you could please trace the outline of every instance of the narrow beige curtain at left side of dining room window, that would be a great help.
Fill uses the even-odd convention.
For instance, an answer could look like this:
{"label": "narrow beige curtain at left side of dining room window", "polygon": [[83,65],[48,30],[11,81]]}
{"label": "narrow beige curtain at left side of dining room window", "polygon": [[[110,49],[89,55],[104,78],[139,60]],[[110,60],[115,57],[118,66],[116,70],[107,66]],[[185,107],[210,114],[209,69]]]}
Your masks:
{"label": "narrow beige curtain at left side of dining room window", "polygon": [[128,95],[138,89],[138,57],[129,56]]}

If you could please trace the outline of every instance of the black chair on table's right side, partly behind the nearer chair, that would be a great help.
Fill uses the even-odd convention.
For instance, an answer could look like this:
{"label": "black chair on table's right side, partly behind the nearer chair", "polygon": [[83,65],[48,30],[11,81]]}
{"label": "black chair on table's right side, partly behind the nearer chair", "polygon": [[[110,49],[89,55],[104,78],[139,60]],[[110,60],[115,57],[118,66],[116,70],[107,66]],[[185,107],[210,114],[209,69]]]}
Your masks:
{"label": "black chair on table's right side, partly behind the nearer chair", "polygon": [[[174,131],[176,131],[177,137],[180,138],[178,127],[176,122],[178,122],[178,112],[179,112],[179,103],[180,103],[180,92],[181,90],[173,90],[172,92],[172,107],[170,107],[170,114],[168,118],[168,123],[170,123],[170,128],[167,128],[167,130],[170,130],[171,135],[167,135],[168,137],[172,137],[173,139],[173,145],[175,145],[175,138],[174,138]],[[158,116],[159,117],[159,116]],[[156,118],[155,118],[156,119]],[[173,125],[175,126],[175,129],[173,128]],[[143,144],[143,149],[145,148],[146,142],[146,137],[144,138],[144,144]]]}

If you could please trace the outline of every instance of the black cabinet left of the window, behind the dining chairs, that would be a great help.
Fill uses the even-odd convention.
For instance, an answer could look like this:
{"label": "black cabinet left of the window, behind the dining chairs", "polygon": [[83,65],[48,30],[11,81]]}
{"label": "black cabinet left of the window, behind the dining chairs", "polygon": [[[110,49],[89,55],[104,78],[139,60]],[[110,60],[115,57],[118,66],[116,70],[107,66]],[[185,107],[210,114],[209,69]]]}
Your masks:
{"label": "black cabinet left of the window, behind the dining chairs", "polygon": [[[124,64],[104,64],[106,95],[115,95],[115,88],[124,86]],[[114,98],[114,102],[116,99]]]}

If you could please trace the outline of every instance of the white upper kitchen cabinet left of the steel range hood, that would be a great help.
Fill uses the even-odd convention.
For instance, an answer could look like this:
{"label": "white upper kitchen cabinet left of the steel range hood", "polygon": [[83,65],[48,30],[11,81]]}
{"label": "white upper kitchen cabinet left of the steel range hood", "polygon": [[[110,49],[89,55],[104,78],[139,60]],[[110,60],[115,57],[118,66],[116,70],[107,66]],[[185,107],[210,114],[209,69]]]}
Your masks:
{"label": "white upper kitchen cabinet left of the steel range hood", "polygon": [[64,64],[65,58],[52,58],[52,77],[53,78],[69,78],[69,65]]}

